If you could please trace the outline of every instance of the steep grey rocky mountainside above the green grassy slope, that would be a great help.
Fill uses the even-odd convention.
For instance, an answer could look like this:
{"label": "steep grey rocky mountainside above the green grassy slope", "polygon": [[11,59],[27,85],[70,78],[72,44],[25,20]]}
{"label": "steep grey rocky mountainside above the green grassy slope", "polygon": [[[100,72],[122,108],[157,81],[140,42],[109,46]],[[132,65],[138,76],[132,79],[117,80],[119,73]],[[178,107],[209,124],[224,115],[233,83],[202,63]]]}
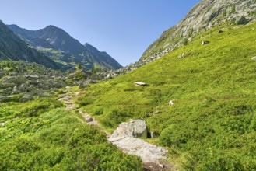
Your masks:
{"label": "steep grey rocky mountainside above the green grassy slope", "polygon": [[188,12],[176,26],[163,32],[159,39],[142,54],[145,58],[163,56],[167,52],[191,41],[193,35],[209,30],[214,26],[246,24],[256,19],[254,0],[203,0]]}

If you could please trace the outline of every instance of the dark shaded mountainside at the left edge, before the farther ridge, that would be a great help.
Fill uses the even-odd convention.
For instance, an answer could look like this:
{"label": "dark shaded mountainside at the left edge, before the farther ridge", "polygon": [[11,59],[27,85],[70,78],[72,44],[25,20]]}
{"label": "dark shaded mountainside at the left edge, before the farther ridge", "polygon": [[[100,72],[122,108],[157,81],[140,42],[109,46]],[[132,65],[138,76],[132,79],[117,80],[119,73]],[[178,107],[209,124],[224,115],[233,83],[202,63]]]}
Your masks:
{"label": "dark shaded mountainside at the left edge, before the farther ridge", "polygon": [[50,58],[30,47],[0,21],[0,60],[30,61],[49,68],[58,68]]}

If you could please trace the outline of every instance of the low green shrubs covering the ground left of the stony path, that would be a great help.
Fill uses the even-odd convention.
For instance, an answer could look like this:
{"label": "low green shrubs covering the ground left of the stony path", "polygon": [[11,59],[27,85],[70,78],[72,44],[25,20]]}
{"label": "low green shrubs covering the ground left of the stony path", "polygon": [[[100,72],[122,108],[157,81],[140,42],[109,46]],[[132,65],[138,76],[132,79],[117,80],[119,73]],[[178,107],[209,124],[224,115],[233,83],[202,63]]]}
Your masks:
{"label": "low green shrubs covering the ground left of the stony path", "polygon": [[142,170],[53,98],[0,103],[1,170]]}

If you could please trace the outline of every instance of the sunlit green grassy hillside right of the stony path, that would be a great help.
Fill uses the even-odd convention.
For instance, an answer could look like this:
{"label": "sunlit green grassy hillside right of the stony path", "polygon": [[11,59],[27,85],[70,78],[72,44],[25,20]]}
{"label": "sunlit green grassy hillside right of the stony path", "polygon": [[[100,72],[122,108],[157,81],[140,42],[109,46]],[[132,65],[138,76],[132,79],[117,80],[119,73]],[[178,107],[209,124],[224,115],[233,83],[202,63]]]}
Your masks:
{"label": "sunlit green grassy hillside right of the stony path", "polygon": [[160,60],[91,86],[77,103],[112,131],[130,118],[146,120],[184,169],[256,169],[254,56],[256,23],[207,30]]}

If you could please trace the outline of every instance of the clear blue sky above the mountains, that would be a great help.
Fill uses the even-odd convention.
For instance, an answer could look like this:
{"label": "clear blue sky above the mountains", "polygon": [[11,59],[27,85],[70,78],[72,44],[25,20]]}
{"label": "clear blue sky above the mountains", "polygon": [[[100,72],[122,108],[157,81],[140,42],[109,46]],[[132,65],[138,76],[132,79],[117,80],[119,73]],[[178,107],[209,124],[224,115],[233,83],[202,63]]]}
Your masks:
{"label": "clear blue sky above the mountains", "polygon": [[58,26],[121,65],[138,61],[200,0],[1,0],[0,19],[27,30]]}

